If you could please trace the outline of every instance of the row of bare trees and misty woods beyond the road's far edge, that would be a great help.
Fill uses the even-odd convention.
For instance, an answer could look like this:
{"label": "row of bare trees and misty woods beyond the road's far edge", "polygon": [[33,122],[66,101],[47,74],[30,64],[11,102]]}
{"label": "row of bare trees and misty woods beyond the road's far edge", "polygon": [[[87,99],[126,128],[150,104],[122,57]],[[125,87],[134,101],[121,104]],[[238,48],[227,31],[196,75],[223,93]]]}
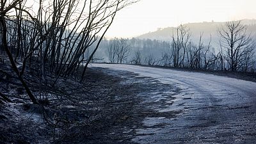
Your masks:
{"label": "row of bare trees and misty woods beyond the road's far edge", "polygon": [[[129,45],[127,54],[129,56],[122,61],[117,60],[118,52],[113,51],[122,51],[121,45],[114,45],[122,38],[103,40],[102,49],[108,49],[107,59],[103,62],[157,65],[193,70],[255,72],[255,39],[251,36],[251,32],[247,31],[247,26],[241,24],[241,21],[226,22],[220,28],[216,27],[216,32],[218,33],[216,42],[212,41],[211,34],[203,31],[197,36],[198,40],[192,40],[193,33],[186,25],[180,25],[172,31],[169,42],[138,38],[127,39],[126,45]],[[209,37],[209,41],[204,42],[204,37]],[[98,55],[102,56],[103,54],[99,53]],[[102,60],[98,62],[102,62]]]}

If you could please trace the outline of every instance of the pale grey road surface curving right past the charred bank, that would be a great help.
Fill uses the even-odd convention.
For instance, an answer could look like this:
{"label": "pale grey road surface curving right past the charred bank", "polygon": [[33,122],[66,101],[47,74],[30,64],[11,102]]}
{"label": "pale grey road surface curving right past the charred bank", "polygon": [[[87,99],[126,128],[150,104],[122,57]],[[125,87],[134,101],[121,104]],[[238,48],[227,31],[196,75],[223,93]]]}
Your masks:
{"label": "pale grey road surface curving right past the charred bank", "polygon": [[93,64],[91,67],[134,72],[179,89],[173,93],[172,106],[154,108],[159,112],[182,113],[173,118],[145,118],[145,127],[136,129],[132,139],[136,143],[256,143],[256,83],[135,65]]}

